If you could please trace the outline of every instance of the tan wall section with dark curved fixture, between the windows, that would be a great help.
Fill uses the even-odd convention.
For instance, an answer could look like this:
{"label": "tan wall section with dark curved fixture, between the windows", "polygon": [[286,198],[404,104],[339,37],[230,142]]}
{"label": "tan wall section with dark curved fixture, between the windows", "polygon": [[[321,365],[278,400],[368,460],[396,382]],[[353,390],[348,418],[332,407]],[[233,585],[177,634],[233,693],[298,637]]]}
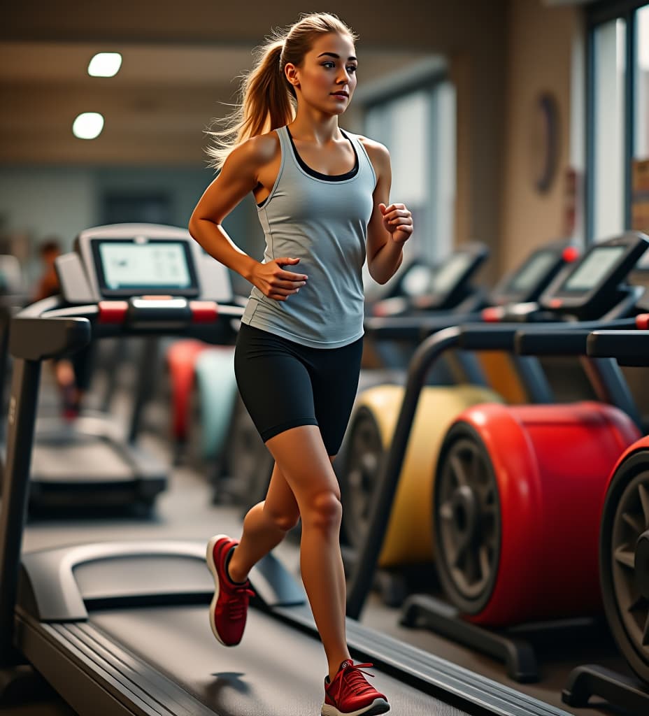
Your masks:
{"label": "tan wall section with dark curved fixture, between the windows", "polygon": [[[578,148],[571,147],[571,94],[578,97],[580,88],[571,87],[571,74],[581,14],[580,8],[548,7],[541,0],[511,0],[509,6],[501,272],[514,269],[532,248],[562,236],[564,172]],[[558,168],[545,193],[532,180],[534,102],[542,92],[552,93],[559,107]],[[582,137],[582,130],[572,131],[572,145]]]}

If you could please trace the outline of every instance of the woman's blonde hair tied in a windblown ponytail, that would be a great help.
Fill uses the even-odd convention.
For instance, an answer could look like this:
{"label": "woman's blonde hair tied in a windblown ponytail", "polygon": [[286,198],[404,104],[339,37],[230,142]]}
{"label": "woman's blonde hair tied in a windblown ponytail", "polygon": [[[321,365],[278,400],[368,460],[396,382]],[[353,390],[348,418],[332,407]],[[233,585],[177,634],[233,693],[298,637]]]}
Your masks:
{"label": "woman's blonde hair tied in a windblown ponytail", "polygon": [[[253,68],[243,76],[234,111],[224,119],[212,120],[207,130],[212,137],[206,149],[211,166],[220,169],[235,147],[294,119],[297,96],[284,67],[289,62],[302,64],[315,39],[332,32],[347,35],[352,42],[357,40],[340,18],[323,12],[300,16],[294,25],[274,31],[264,44],[256,47]],[[223,128],[215,129],[218,125]]]}

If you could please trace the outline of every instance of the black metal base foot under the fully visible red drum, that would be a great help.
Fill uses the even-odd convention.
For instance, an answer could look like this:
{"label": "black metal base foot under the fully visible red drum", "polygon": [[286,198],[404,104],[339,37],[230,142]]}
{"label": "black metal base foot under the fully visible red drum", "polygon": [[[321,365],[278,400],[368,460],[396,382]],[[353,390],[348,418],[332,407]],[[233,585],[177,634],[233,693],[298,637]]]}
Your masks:
{"label": "black metal base foot under the fully visible red drum", "polygon": [[519,683],[539,680],[537,657],[532,644],[523,639],[505,637],[461,618],[455,607],[428,594],[414,594],[403,604],[400,624],[416,627],[424,624],[431,631],[471,649],[504,662],[507,675]]}

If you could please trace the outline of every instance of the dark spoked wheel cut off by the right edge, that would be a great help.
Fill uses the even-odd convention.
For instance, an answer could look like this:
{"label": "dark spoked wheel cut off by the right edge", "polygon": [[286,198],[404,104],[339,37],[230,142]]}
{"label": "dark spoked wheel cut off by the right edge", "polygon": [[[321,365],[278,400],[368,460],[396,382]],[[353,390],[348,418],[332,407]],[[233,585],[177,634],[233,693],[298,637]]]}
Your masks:
{"label": "dark spoked wheel cut off by the right edge", "polygon": [[604,608],[620,651],[649,682],[649,450],[615,471],[602,511],[600,578]]}

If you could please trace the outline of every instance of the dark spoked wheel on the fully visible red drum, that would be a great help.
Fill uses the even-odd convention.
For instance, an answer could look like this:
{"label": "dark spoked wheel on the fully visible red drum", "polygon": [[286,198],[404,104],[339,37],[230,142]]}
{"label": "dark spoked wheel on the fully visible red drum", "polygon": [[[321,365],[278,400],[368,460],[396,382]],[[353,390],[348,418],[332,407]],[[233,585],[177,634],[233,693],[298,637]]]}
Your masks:
{"label": "dark spoked wheel on the fully visible red drum", "polygon": [[435,490],[438,572],[446,594],[467,614],[484,609],[500,556],[496,476],[471,427],[453,425],[439,460]]}

